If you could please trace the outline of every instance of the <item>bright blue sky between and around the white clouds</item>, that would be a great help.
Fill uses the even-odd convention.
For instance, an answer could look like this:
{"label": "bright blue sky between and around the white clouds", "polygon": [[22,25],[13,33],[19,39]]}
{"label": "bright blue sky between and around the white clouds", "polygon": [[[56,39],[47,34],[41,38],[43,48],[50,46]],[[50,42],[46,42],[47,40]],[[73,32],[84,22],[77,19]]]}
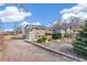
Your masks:
{"label": "bright blue sky between and around the white clouds", "polygon": [[[7,7],[17,7],[23,9],[25,12],[31,12],[31,17],[25,17],[22,21],[29,23],[40,22],[41,25],[52,25],[53,22],[62,19],[59,13],[63,9],[69,9],[76,6],[76,3],[7,3],[0,6],[0,11],[6,10]],[[21,21],[21,22],[22,22]],[[18,22],[3,22],[4,29],[14,29]]]}

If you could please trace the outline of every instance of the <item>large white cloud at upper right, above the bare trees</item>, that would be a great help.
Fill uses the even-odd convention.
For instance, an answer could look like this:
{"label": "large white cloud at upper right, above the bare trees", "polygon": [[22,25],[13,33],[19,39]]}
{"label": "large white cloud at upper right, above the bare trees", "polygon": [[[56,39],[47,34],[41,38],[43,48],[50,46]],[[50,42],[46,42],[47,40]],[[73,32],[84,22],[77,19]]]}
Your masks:
{"label": "large white cloud at upper right, above the bare trees", "polygon": [[62,21],[69,21],[70,17],[80,18],[80,20],[87,20],[87,3],[79,3],[70,9],[63,9],[61,11]]}

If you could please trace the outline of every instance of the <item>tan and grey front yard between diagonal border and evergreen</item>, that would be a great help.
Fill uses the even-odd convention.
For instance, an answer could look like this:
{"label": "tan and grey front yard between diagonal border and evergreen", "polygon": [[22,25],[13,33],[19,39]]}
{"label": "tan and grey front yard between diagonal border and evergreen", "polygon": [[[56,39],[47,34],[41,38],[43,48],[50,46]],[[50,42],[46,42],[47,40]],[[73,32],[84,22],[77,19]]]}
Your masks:
{"label": "tan and grey front yard between diagonal border and evergreen", "polygon": [[48,43],[37,43],[37,44],[41,44],[45,47],[50,47],[50,48],[53,48],[56,51],[61,51],[63,53],[76,56],[78,58],[81,58],[77,54],[75,54],[75,52],[73,50],[73,41],[74,41],[74,39],[65,37],[65,39],[61,39],[61,40],[52,40]]}

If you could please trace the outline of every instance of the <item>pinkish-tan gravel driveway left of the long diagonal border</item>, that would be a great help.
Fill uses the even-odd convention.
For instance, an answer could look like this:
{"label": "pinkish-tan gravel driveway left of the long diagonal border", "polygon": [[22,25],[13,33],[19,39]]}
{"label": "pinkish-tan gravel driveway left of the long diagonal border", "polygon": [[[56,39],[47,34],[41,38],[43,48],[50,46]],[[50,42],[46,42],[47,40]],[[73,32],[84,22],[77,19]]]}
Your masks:
{"label": "pinkish-tan gravel driveway left of the long diagonal border", "polygon": [[37,47],[23,40],[6,41],[2,62],[67,62],[62,55]]}

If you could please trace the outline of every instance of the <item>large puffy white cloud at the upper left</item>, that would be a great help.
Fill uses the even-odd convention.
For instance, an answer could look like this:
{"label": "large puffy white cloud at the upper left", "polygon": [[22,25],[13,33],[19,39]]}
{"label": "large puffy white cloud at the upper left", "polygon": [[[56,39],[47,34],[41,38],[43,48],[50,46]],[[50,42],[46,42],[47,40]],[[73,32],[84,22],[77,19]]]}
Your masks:
{"label": "large puffy white cloud at the upper left", "polygon": [[30,15],[31,12],[25,12],[23,9],[18,9],[17,7],[7,7],[4,10],[0,11],[0,19],[2,22],[20,22]]}

